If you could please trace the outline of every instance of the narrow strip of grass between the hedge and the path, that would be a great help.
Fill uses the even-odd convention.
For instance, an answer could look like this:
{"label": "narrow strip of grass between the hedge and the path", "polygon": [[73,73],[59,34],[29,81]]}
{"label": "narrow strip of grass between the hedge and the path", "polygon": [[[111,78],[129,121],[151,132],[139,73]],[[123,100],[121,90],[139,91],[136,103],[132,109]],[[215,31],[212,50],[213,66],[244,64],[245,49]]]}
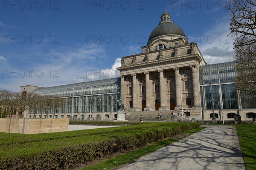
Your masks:
{"label": "narrow strip of grass between the hedge and the path", "polygon": [[[193,133],[203,130],[204,128],[206,127],[198,127],[192,130],[187,130],[182,134],[186,134],[186,136],[189,136]],[[142,156],[145,156],[162,147],[165,147],[169,144],[177,142],[180,139],[182,138],[171,138],[171,139],[159,140],[158,142],[151,143],[148,146],[142,147],[140,149],[132,150],[131,152],[128,152],[128,153],[121,153],[120,155],[115,156],[113,158],[84,167],[82,170],[113,170],[123,164],[131,163],[132,161],[135,161]]]}

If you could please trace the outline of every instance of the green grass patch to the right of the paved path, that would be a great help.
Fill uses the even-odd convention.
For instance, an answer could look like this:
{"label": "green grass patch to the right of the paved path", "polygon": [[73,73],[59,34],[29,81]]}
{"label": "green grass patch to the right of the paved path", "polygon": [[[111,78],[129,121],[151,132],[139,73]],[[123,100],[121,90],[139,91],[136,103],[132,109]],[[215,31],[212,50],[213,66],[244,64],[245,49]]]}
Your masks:
{"label": "green grass patch to the right of the paved path", "polygon": [[246,170],[256,169],[256,125],[236,125]]}

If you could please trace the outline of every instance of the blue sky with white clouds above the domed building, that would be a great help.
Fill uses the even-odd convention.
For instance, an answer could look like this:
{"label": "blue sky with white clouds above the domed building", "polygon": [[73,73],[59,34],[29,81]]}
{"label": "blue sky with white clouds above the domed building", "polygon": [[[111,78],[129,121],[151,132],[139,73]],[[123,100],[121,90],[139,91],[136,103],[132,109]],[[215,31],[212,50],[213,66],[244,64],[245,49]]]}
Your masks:
{"label": "blue sky with white clouds above the domed building", "polygon": [[166,9],[208,64],[233,61],[226,1],[0,1],[0,89],[118,77]]}

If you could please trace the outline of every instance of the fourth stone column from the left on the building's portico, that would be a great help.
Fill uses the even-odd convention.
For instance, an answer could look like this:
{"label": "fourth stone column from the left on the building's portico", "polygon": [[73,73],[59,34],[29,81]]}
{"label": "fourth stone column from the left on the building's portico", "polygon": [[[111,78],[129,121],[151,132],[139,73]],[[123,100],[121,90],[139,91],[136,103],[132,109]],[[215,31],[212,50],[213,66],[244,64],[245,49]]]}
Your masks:
{"label": "fourth stone column from the left on the building's portico", "polygon": [[160,86],[160,111],[164,111],[166,108],[165,102],[166,102],[166,88],[165,88],[165,82],[163,79],[163,70],[158,70],[159,72],[159,86]]}

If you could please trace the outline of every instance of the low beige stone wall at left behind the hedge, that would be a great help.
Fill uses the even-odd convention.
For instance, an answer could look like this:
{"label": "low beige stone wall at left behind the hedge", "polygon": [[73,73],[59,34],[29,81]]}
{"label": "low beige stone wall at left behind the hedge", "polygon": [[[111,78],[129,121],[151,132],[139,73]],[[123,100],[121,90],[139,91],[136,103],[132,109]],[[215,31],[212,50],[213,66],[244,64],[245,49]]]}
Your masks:
{"label": "low beige stone wall at left behind the hedge", "polygon": [[68,131],[68,121],[68,118],[1,118],[0,132],[23,134],[65,132]]}

